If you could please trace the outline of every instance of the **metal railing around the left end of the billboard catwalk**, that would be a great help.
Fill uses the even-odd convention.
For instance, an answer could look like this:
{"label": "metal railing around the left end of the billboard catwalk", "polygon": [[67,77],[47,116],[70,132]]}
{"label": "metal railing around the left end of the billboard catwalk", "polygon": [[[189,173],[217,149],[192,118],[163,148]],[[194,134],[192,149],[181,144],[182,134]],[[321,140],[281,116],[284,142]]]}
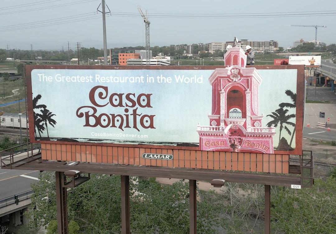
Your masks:
{"label": "metal railing around the left end of the billboard catwalk", "polygon": [[[38,153],[40,153],[41,150],[41,145],[39,143],[24,143],[24,144],[19,144],[15,145],[9,149],[0,151],[0,167],[4,168],[9,168],[12,169],[12,164],[25,160],[25,159],[30,159],[34,156],[34,150],[39,149]],[[27,156],[24,157],[22,155],[22,159],[18,159],[15,161],[14,157],[18,156],[19,154],[23,154],[27,152]]]}

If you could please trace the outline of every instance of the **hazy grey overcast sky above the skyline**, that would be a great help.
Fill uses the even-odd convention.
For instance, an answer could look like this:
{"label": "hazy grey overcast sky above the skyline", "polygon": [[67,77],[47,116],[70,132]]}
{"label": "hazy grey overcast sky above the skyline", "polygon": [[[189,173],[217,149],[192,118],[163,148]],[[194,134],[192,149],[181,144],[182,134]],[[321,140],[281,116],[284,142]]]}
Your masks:
{"label": "hazy grey overcast sky above the skyline", "polygon": [[[0,48],[30,49],[66,49],[70,41],[75,49],[76,42],[84,47],[102,48],[102,19],[94,15],[100,0],[0,0]],[[76,3],[69,5],[72,3]],[[31,3],[30,5],[28,5]],[[265,1],[265,0],[170,0],[170,1],[135,1],[106,0],[112,12],[130,12],[138,14],[137,5],[148,10],[151,35],[151,46],[170,44],[191,44],[223,42],[238,39],[256,41],[278,40],[279,46],[293,46],[293,41],[303,38],[314,40],[315,28],[291,27],[290,24],[318,24],[326,28],[318,29],[318,40],[327,44],[336,43],[336,1]],[[19,8],[12,6],[25,4]],[[59,7],[60,4],[64,4]],[[68,4],[68,5],[67,5]],[[7,7],[7,8],[6,8]],[[10,7],[10,8],[8,8]],[[49,9],[33,8],[52,7]],[[108,10],[108,9],[107,9]],[[24,11],[24,12],[19,12]],[[266,13],[296,11],[329,11],[334,15],[314,15],[305,17],[263,17],[263,18],[162,18],[151,14],[224,14],[224,13]],[[12,13],[8,13],[12,12]],[[17,13],[14,13],[17,12]],[[92,15],[79,15],[92,12]],[[318,12],[321,13],[321,12]],[[326,12],[327,13],[327,12]],[[302,13],[297,13],[302,14]],[[47,25],[36,28],[23,28],[27,25],[40,26],[42,23],[56,24],[66,20],[79,20],[58,25]],[[77,18],[73,18],[77,17]],[[87,19],[92,17],[92,19]],[[55,19],[60,18],[60,19]],[[86,19],[86,20],[84,20]],[[62,20],[62,21],[59,21]],[[16,25],[36,22],[35,24]],[[5,26],[16,25],[19,30],[4,31]],[[144,23],[138,16],[110,16],[106,18],[108,47],[144,45]],[[13,27],[5,27],[13,29]]]}

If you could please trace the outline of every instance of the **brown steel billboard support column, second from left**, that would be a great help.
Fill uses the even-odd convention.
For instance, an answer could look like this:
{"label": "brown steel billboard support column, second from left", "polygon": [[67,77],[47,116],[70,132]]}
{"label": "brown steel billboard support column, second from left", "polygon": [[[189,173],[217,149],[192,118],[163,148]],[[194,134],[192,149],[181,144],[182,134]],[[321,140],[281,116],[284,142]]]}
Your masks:
{"label": "brown steel billboard support column, second from left", "polygon": [[129,176],[121,175],[121,233],[130,234]]}

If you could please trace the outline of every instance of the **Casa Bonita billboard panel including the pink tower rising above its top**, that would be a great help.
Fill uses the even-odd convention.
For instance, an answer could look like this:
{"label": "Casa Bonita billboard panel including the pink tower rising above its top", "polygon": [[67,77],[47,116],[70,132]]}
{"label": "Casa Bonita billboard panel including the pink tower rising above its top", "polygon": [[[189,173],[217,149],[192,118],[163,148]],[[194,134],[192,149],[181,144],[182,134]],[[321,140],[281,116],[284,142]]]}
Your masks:
{"label": "Casa Bonita billboard panel including the pink tower rising above its top", "polygon": [[30,66],[31,141],[299,154],[303,66],[245,59],[234,47],[221,67]]}

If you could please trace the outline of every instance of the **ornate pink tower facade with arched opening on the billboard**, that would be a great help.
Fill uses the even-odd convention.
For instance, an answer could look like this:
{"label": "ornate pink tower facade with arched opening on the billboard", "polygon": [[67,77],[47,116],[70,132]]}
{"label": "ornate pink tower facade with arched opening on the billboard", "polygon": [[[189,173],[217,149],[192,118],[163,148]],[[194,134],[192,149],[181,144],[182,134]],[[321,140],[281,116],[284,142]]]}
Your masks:
{"label": "ornate pink tower facade with arched opening on the billboard", "polygon": [[197,126],[200,150],[273,154],[275,127],[262,127],[258,113],[261,76],[254,67],[246,68],[240,47],[224,55],[227,68],[211,74],[212,113],[209,126]]}

